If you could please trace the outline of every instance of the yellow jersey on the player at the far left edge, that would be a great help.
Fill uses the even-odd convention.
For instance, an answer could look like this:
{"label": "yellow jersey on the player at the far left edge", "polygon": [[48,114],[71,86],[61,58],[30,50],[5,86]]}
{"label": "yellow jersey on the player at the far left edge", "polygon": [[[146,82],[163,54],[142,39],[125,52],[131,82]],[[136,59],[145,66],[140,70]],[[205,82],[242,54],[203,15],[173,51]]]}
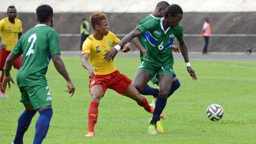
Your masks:
{"label": "yellow jersey on the player at the far left edge", "polygon": [[7,50],[11,51],[18,41],[18,33],[23,31],[22,23],[15,18],[15,23],[9,22],[8,17],[3,18],[0,21],[0,33],[2,37],[2,43],[7,45]]}

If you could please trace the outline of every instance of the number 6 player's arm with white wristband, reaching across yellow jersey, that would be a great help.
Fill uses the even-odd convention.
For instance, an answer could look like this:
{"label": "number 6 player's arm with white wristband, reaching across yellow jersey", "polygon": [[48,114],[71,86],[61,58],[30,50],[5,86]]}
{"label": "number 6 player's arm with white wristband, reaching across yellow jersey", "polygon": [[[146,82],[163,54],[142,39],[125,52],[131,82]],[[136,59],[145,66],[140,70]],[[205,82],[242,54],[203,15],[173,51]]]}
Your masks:
{"label": "number 6 player's arm with white wristband, reaching across yellow jersey", "polygon": [[[114,47],[114,49],[111,49],[110,52],[105,54],[104,60],[107,60],[108,62],[110,62],[111,59],[114,59],[114,57],[117,55],[118,50],[121,47],[124,46],[124,44],[128,43],[129,41],[131,41],[133,38],[135,37],[139,37],[142,35],[142,32],[138,29],[135,28],[135,30],[131,31],[129,34],[127,34],[121,41],[119,44],[117,44],[117,46]],[[118,48],[119,47],[119,48]]]}

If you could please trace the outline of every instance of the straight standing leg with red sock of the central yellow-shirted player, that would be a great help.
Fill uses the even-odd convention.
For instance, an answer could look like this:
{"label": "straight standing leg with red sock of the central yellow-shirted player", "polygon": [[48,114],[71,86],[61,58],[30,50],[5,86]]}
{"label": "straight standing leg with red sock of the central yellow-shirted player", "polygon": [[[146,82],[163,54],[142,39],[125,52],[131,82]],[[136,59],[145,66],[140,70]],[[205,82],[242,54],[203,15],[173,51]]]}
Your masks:
{"label": "straight standing leg with red sock of the central yellow-shirted player", "polygon": [[94,136],[94,126],[98,120],[98,105],[100,104],[100,100],[103,97],[106,89],[107,88],[103,89],[103,85],[101,84],[93,85],[90,89],[92,100],[88,110],[88,133],[85,135],[86,137]]}

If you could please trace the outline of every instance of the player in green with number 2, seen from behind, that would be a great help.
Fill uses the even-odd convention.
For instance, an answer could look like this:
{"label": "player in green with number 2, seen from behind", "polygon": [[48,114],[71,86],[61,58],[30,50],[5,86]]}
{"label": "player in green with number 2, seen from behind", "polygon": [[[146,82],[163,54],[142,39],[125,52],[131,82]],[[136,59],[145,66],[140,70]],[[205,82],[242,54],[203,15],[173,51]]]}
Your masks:
{"label": "player in green with number 2, seen from behind", "polygon": [[[18,119],[18,126],[14,142],[23,143],[24,133],[27,131],[32,118],[39,111],[36,122],[34,144],[42,143],[50,126],[52,118],[52,95],[47,85],[46,72],[52,58],[57,71],[66,79],[69,94],[74,94],[73,86],[65,65],[60,58],[59,36],[53,26],[53,9],[49,5],[41,5],[36,9],[37,25],[25,33],[5,62],[5,76],[2,88],[10,82],[14,83],[9,71],[12,63],[23,54],[23,65],[17,74],[17,83],[21,92],[21,103],[25,110]],[[72,96],[71,95],[71,96]]]}

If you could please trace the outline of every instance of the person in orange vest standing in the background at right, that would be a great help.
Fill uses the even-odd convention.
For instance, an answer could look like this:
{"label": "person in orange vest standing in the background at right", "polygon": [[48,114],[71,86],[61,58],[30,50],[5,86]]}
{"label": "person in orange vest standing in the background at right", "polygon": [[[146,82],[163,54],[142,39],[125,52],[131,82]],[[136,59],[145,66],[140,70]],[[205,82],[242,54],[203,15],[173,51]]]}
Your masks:
{"label": "person in orange vest standing in the background at right", "polygon": [[204,48],[203,48],[203,54],[207,54],[207,48],[209,44],[209,38],[212,35],[211,30],[210,30],[210,24],[209,24],[209,19],[205,18],[204,19],[204,24],[203,24],[203,37],[204,37]]}

